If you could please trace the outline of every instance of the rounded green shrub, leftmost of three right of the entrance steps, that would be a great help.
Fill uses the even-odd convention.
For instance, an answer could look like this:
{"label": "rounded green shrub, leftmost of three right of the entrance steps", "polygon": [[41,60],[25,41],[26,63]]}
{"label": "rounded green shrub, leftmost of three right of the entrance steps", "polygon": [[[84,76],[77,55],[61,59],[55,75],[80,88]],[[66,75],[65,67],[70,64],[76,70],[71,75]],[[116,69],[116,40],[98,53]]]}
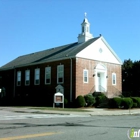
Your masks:
{"label": "rounded green shrub, leftmost of three right of the entrance steps", "polygon": [[115,97],[115,98],[109,99],[110,108],[120,108],[121,104],[122,104],[122,98]]}

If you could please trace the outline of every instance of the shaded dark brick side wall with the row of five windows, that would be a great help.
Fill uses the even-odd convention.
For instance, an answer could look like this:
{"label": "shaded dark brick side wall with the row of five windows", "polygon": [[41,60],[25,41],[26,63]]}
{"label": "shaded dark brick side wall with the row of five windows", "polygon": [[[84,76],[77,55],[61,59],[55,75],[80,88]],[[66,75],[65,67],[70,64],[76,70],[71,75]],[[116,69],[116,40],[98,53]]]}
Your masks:
{"label": "shaded dark brick side wall with the row of five windows", "polygon": [[[65,98],[70,100],[70,68],[71,68],[71,60],[61,60],[61,61],[55,61],[55,62],[49,62],[49,63],[43,63],[38,64],[34,66],[26,66],[22,68],[16,69],[16,71],[20,70],[22,72],[22,82],[21,86],[16,86],[16,95],[20,96],[32,96],[34,98],[44,97],[47,100],[53,100],[53,95],[56,93],[55,87],[59,84],[57,84],[57,66],[58,65],[64,65],[64,83],[60,84],[64,87],[64,95]],[[45,67],[50,66],[51,67],[51,84],[46,85],[45,84]],[[40,68],[40,84],[34,85],[34,71],[36,68]],[[30,70],[30,85],[25,86],[25,70]],[[72,69],[73,69],[73,78],[72,78],[72,93],[75,93],[75,59],[72,60]],[[73,99],[75,98],[75,95],[73,95]],[[52,102],[52,101],[51,101]]]}

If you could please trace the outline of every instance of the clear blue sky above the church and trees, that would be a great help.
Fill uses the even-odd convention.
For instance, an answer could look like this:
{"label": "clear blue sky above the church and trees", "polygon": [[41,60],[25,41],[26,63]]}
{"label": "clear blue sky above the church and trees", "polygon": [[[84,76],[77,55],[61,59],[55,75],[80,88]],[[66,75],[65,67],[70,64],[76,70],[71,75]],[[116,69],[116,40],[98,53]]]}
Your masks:
{"label": "clear blue sky above the church and trees", "polygon": [[140,0],[0,0],[0,66],[77,42],[84,13],[122,61],[140,60]]}

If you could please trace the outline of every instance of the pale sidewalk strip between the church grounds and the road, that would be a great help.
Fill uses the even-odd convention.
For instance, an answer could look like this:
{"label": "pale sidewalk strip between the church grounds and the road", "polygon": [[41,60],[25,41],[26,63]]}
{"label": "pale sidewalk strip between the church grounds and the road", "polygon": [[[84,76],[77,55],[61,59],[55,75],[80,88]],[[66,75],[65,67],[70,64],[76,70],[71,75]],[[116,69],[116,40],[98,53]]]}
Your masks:
{"label": "pale sidewalk strip between the church grounds and the road", "polygon": [[0,107],[0,110],[10,111],[10,112],[19,112],[19,113],[36,113],[36,114],[60,114],[60,115],[136,115],[140,114],[140,109],[98,109],[98,108],[87,108],[87,112],[76,112],[76,111],[58,111],[58,110],[41,110],[41,109],[32,109],[30,107]]}

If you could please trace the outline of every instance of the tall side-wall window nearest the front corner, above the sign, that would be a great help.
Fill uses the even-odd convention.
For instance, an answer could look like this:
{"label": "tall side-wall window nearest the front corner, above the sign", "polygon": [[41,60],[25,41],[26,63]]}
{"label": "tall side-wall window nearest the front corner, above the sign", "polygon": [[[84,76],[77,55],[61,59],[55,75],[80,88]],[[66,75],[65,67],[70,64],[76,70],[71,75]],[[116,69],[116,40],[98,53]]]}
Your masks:
{"label": "tall side-wall window nearest the front corner, above the sign", "polygon": [[64,83],[64,65],[57,66],[57,83]]}

